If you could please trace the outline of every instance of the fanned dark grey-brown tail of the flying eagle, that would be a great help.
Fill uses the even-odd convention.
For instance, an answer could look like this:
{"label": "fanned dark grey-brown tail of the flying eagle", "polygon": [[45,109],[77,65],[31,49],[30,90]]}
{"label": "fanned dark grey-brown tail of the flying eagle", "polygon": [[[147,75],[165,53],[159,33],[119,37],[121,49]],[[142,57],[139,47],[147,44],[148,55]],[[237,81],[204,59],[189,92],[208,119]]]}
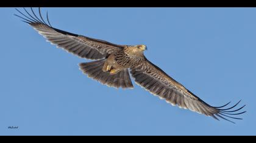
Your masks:
{"label": "fanned dark grey-brown tail of the flying eagle", "polygon": [[102,84],[107,84],[109,87],[133,88],[128,69],[126,68],[115,75],[110,75],[110,73],[102,71],[105,60],[80,63],[79,67],[89,78],[93,78]]}

